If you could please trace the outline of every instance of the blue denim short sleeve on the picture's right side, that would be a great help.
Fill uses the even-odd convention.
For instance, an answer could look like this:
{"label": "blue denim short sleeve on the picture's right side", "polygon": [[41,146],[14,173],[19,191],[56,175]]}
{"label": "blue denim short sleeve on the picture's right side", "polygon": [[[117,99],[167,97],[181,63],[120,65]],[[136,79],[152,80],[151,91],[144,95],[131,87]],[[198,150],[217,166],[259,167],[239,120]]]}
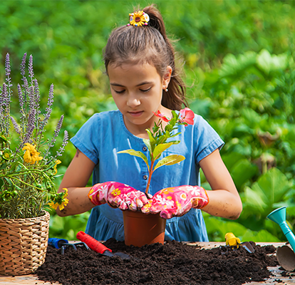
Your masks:
{"label": "blue denim short sleeve on the picture's right side", "polygon": [[217,132],[207,123],[207,120],[200,115],[195,115],[195,160],[199,163],[207,155],[220,150],[224,141],[219,137]]}

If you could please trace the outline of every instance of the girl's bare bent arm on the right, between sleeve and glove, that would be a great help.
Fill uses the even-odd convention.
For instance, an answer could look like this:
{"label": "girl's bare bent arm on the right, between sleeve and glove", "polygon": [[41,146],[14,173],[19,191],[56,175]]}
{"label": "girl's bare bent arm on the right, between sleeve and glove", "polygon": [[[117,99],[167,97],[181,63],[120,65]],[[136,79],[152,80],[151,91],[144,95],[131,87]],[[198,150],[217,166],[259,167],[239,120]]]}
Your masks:
{"label": "girl's bare bent arm on the right, between sleeve and glove", "polygon": [[212,188],[207,191],[209,204],[202,210],[213,216],[237,219],[242,212],[242,201],[219,150],[203,158],[200,167]]}

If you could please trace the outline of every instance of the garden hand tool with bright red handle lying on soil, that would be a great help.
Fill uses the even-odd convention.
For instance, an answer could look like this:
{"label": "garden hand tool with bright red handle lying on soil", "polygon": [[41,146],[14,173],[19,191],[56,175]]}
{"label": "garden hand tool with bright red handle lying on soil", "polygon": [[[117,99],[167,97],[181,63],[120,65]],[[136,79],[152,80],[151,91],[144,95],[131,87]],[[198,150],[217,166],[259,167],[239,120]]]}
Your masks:
{"label": "garden hand tool with bright red handle lying on soil", "polygon": [[77,239],[81,240],[81,242],[86,243],[88,247],[90,247],[90,249],[92,249],[94,252],[106,255],[107,257],[118,256],[122,259],[130,259],[130,256],[128,254],[123,254],[123,252],[115,252],[113,254],[112,249],[108,249],[108,247],[105,247],[105,245],[98,242],[98,240],[94,239],[93,237],[90,237],[90,235],[86,234],[85,232],[78,232],[76,237]]}

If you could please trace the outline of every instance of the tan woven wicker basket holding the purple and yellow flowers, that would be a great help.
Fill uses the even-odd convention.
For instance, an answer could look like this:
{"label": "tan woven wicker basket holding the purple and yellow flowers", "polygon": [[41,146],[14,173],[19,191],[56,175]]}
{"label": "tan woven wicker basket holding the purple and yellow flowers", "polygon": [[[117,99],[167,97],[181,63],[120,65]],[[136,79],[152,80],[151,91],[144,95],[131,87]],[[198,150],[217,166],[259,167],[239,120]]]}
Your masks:
{"label": "tan woven wicker basket holding the purple and yellow flowers", "polygon": [[31,274],[43,264],[50,214],[26,219],[0,219],[0,274]]}

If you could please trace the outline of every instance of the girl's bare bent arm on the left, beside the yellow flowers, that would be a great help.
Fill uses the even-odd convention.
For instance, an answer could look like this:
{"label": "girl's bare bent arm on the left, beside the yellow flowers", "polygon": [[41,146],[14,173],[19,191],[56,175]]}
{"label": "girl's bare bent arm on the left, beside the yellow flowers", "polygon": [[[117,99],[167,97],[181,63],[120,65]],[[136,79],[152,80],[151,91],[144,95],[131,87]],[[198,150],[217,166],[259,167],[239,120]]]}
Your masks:
{"label": "girl's bare bent arm on the left, beside the yellow flowers", "polygon": [[77,149],[58,188],[58,192],[62,192],[63,188],[68,189],[68,204],[61,211],[56,209],[58,216],[81,214],[95,207],[88,198],[91,187],[85,187],[94,167],[95,163]]}

